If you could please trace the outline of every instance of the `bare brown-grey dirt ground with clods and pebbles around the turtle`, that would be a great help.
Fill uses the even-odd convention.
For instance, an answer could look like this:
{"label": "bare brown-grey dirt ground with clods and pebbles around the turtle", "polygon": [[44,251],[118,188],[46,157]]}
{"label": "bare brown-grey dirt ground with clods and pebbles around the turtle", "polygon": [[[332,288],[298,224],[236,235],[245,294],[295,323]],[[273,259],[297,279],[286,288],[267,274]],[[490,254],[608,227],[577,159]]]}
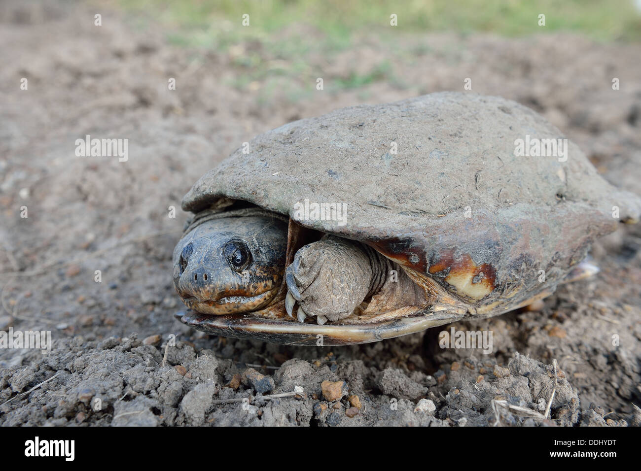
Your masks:
{"label": "bare brown-grey dirt ground with clods and pebbles around the turtle", "polygon": [[[269,100],[257,99],[260,84],[229,85],[246,73],[235,54],[271,60],[260,44],[191,50],[119,13],[101,27],[93,15],[69,3],[0,5],[0,331],[51,331],[54,342],[49,354],[0,350],[0,426],[641,423],[638,225],[596,242],[601,272],[542,310],[454,326],[492,331],[491,354],[440,349],[441,329],[332,348],[207,336],[174,320],[171,278],[182,196],[242,142],[342,106],[462,90],[465,78],[472,92],[542,113],[605,178],[639,192],[638,44],[372,35],[329,59],[311,54],[324,90],[292,102],[285,78]],[[403,84],[333,87],[381,58]],[[87,134],[128,138],[129,160],[77,157]],[[263,399],[296,386],[301,397]]]}

